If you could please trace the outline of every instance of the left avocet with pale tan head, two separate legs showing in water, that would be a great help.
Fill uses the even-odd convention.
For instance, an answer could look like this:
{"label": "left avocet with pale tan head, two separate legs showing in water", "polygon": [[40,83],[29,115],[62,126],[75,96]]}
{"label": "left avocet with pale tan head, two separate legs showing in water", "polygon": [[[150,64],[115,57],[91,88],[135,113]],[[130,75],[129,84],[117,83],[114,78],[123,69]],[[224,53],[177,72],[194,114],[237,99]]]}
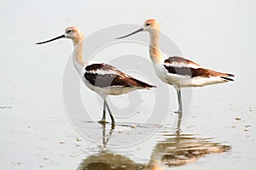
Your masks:
{"label": "left avocet with pale tan head, two separate legs showing in water", "polygon": [[42,44],[51,42],[60,38],[69,38],[73,40],[73,65],[82,77],[84,84],[102,96],[103,102],[103,116],[101,123],[106,122],[106,107],[112,124],[114,124],[113,115],[109,109],[107,96],[127,94],[137,89],[149,89],[155,86],[148,83],[141,82],[134,77],[131,77],[111,65],[105,63],[87,62],[82,57],[82,50],[84,44],[84,35],[79,28],[75,26],[67,27],[65,33],[59,37],[55,37],[45,42],[38,42]]}

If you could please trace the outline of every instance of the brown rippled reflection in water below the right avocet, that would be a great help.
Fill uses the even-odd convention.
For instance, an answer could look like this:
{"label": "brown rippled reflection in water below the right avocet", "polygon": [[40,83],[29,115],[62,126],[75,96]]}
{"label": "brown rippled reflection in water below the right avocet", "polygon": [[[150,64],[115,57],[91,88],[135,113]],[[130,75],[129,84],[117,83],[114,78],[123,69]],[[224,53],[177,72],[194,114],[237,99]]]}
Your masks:
{"label": "brown rippled reflection in water below the right avocet", "polygon": [[177,167],[197,161],[208,154],[222,153],[231,149],[230,145],[212,142],[212,138],[197,138],[193,134],[181,134],[180,131],[166,134],[166,137],[154,146],[148,163],[149,167],[154,167],[151,169]]}

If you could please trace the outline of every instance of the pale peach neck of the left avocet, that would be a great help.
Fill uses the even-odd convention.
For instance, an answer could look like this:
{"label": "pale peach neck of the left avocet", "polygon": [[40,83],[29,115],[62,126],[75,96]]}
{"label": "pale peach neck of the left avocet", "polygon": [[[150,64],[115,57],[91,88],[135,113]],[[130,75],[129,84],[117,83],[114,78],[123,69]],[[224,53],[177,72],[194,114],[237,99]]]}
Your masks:
{"label": "pale peach neck of the left avocet", "polygon": [[73,40],[73,65],[79,73],[82,71],[86,61],[83,59],[83,45],[84,38],[79,40]]}

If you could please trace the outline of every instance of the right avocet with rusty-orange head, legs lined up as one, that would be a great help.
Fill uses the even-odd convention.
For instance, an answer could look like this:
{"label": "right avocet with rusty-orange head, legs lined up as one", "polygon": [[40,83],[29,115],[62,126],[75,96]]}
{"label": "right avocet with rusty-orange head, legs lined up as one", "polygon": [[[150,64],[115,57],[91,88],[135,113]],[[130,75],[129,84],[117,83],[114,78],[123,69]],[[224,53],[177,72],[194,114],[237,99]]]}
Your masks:
{"label": "right avocet with rusty-orange head, legs lined up as one", "polygon": [[[143,24],[143,28],[140,28],[139,30],[124,37],[129,37],[140,31],[149,32],[149,54],[150,59],[153,61],[156,75],[161,81],[171,84],[177,91],[177,100],[179,105],[177,113],[179,113],[179,115],[182,115],[183,112],[181,88],[202,87],[210,84],[234,81],[230,78],[234,77],[232,74],[212,71],[189,59],[183,59],[177,56],[166,59],[164,54],[160,53],[160,25],[156,20],[146,20]],[[118,37],[117,39],[124,37]]]}

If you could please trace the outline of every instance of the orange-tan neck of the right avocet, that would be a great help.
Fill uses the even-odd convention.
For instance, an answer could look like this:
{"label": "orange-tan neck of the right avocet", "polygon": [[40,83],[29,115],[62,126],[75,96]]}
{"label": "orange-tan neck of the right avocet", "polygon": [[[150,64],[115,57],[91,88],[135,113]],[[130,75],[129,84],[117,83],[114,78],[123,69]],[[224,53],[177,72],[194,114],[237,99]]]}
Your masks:
{"label": "orange-tan neck of the right avocet", "polygon": [[150,34],[150,46],[149,46],[150,59],[154,63],[159,63],[163,58],[163,55],[160,53],[160,50],[159,50],[160,31],[153,30],[153,31],[150,31],[149,34]]}

